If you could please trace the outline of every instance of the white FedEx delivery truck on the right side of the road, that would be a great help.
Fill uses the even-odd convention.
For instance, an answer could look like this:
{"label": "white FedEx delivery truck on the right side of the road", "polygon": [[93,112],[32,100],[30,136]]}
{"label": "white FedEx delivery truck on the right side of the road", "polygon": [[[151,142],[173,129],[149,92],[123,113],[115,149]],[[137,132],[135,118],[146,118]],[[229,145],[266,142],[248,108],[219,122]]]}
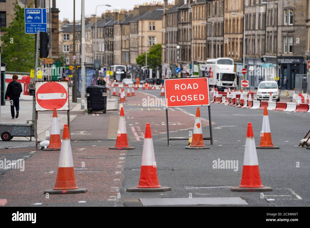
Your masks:
{"label": "white FedEx delivery truck on the right side of the road", "polygon": [[215,86],[218,90],[224,91],[229,86],[234,88],[237,85],[235,66],[233,59],[217,58],[206,60],[205,75],[209,77],[209,85]]}

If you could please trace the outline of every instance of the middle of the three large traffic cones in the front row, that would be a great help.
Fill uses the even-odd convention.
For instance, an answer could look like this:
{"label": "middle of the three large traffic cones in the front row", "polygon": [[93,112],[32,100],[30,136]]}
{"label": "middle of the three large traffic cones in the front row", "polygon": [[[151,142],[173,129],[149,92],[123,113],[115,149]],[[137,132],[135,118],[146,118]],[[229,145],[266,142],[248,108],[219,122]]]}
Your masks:
{"label": "middle of the three large traffic cones in the front row", "polygon": [[153,139],[150,124],[146,124],[140,180],[137,187],[127,188],[127,191],[168,191],[170,187],[162,187],[159,185],[156,169],[156,161],[154,154]]}

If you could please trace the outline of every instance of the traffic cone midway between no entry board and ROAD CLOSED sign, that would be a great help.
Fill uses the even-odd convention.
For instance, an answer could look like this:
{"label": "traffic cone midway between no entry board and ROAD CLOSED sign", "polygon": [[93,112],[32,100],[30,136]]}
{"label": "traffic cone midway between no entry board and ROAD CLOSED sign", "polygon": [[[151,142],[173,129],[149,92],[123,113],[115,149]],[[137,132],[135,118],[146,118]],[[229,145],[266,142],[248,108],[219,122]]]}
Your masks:
{"label": "traffic cone midway between no entry board and ROAD CLOSED sign", "polygon": [[125,114],[124,114],[123,107],[121,108],[119,122],[118,122],[116,144],[115,146],[109,147],[109,149],[110,150],[133,150],[135,149],[135,147],[131,147],[128,145],[126,120],[125,120]]}

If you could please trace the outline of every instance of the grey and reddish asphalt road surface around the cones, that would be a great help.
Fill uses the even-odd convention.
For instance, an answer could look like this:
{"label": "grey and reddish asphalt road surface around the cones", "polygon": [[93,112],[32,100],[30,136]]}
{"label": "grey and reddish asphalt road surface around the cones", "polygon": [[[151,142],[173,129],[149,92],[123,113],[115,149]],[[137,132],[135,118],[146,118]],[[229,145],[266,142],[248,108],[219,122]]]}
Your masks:
{"label": "grey and reddish asphalt road surface around the cones", "polygon": [[[257,155],[263,185],[272,187],[273,191],[232,192],[230,186],[238,186],[241,181],[247,123],[252,123],[258,145],[263,110],[212,103],[213,145],[205,141],[210,149],[186,150],[187,140],[170,141],[170,146],[167,145],[165,109],[143,105],[143,99],[147,100],[148,96],[149,99],[163,98],[159,96],[160,90],[139,89],[135,94],[126,98],[123,105],[129,145],[135,150],[108,150],[115,145],[115,141],[105,139],[117,133],[114,130],[118,125],[117,111],[95,117],[78,114],[71,123],[71,129],[75,129],[71,133],[76,133],[75,140],[71,141],[75,176],[79,187],[88,188],[86,193],[49,195],[49,198],[43,194],[55,185],[59,151],[35,152],[33,147],[6,149],[0,151],[0,158],[25,159],[25,170],[0,170],[0,203],[6,206],[143,206],[141,201],[146,198],[154,199],[150,205],[154,205],[156,198],[183,198],[180,202],[184,200],[186,204],[191,196],[192,199],[214,198],[221,206],[310,205],[310,150],[297,147],[309,130],[306,124],[309,113],[268,111],[272,141],[280,149],[259,149]],[[188,138],[193,131],[196,109],[168,109],[169,137]],[[203,136],[209,137],[208,109],[206,106],[200,109]],[[159,183],[171,187],[171,191],[126,191],[139,182],[146,123],[151,124]],[[234,169],[215,169],[213,161],[218,159],[233,160],[238,165]],[[228,197],[240,197],[246,204],[232,203]]]}

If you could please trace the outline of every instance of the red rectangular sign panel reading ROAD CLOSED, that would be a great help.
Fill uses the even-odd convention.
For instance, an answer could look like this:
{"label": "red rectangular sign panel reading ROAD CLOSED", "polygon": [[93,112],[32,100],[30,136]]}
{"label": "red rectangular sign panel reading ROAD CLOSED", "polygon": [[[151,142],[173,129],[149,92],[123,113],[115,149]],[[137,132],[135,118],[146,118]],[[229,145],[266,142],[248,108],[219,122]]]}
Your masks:
{"label": "red rectangular sign panel reading ROAD CLOSED", "polygon": [[166,107],[210,105],[208,78],[165,79]]}

